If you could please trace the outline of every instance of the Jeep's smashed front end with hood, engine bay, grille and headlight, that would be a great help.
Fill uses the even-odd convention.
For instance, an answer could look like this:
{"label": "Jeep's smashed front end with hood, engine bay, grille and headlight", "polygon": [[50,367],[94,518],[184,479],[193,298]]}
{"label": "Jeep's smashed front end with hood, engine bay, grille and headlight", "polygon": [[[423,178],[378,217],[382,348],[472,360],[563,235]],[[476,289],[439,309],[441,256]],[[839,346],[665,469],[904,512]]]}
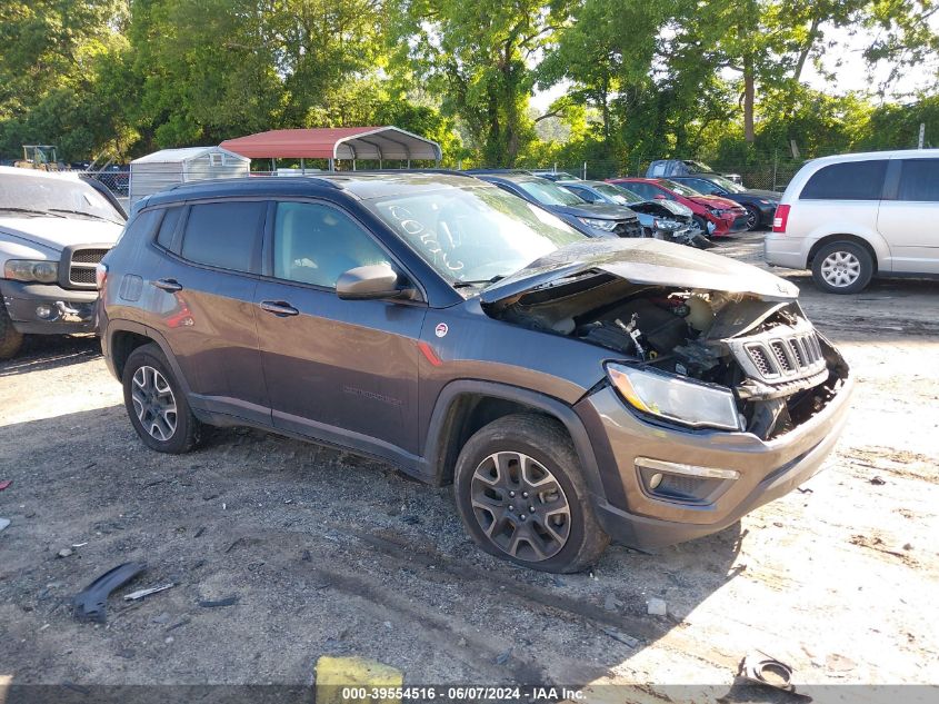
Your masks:
{"label": "Jeep's smashed front end with hood, engine bay, grille and headlight", "polygon": [[795,286],[725,257],[643,240],[556,252],[513,278],[487,291],[488,315],[609,349],[609,383],[658,420],[771,440],[848,378]]}

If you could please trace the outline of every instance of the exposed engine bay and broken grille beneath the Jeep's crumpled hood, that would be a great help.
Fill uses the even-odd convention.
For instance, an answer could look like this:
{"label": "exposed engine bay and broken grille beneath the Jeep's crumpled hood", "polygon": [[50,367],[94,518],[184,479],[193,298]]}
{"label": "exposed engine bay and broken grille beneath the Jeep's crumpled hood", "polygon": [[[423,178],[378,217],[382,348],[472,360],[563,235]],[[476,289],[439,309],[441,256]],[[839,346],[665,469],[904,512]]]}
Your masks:
{"label": "exposed engine bay and broken grille beneath the Jeep's crumpled hood", "polygon": [[593,270],[488,313],[731,389],[741,427],[762,439],[811,418],[848,376],[845,360],[793,299],[637,285]]}

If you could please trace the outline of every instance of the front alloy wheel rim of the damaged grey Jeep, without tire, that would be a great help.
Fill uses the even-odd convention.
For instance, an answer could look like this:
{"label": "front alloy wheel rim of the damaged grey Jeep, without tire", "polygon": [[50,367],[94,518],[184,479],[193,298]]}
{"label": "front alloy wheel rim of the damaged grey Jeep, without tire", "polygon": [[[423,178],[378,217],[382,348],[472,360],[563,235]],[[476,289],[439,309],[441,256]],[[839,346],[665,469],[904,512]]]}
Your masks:
{"label": "front alloy wheel rim of the damaged grey Jeep, without tire", "polygon": [[489,455],[472,475],[470,498],[483,533],[517,559],[549,559],[570,537],[570,504],[563,487],[528,455]]}

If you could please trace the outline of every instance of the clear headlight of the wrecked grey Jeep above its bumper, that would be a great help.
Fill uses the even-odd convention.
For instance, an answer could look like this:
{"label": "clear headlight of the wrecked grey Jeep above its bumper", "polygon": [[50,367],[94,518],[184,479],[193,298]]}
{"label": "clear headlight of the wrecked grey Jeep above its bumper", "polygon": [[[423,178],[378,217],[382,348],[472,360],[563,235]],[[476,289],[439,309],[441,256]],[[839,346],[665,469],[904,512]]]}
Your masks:
{"label": "clear headlight of the wrecked grey Jeep above its bumper", "polygon": [[621,364],[608,364],[607,376],[623,400],[642,413],[692,428],[743,429],[730,389]]}

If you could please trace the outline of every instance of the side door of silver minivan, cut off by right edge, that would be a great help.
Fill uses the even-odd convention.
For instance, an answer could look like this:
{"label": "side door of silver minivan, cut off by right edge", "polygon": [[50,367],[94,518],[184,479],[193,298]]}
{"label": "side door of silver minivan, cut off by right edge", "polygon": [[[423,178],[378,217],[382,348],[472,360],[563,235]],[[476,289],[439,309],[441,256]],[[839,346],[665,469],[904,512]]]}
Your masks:
{"label": "side door of silver minivan, cut off by right edge", "polygon": [[939,159],[892,159],[877,228],[893,271],[939,274]]}

